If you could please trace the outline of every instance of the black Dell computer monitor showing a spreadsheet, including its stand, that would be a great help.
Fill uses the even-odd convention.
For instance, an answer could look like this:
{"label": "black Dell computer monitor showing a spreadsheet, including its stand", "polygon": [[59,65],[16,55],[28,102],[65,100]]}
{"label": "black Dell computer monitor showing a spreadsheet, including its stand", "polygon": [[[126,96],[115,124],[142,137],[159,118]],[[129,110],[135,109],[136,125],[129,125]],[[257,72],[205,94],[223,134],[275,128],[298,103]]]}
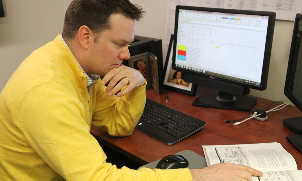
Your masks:
{"label": "black Dell computer monitor showing a spreadsheet, including its stand", "polygon": [[172,68],[184,80],[219,90],[192,104],[249,111],[265,90],[275,12],[176,6]]}

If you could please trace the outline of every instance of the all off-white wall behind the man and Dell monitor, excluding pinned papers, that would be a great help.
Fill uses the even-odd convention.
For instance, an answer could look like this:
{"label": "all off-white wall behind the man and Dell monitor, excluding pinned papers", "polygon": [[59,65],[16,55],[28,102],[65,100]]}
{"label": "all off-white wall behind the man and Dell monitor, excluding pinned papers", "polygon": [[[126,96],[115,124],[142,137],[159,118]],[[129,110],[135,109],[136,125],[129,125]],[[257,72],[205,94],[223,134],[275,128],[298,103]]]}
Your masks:
{"label": "all off-white wall behind the man and Dell monitor, excluding pinned papers", "polygon": [[[159,38],[164,42],[168,0],[130,1],[147,12],[137,23],[136,35]],[[71,0],[5,0],[7,17],[0,18],[0,90],[33,50],[62,32],[64,11],[69,2]],[[251,95],[289,102],[283,90],[293,26],[293,21],[276,20],[268,86],[264,91],[251,90]],[[168,45],[163,43],[164,60],[167,49]]]}

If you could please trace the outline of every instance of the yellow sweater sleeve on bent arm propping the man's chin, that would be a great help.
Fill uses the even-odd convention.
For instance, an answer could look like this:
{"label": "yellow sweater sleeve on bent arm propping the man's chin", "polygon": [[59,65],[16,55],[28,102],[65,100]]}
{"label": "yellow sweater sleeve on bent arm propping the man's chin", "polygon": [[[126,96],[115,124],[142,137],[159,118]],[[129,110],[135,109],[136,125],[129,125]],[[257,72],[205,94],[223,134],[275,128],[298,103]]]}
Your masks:
{"label": "yellow sweater sleeve on bent arm propping the man's chin", "polygon": [[106,130],[112,136],[129,136],[137,125],[146,103],[146,80],[142,87],[117,98],[105,94],[105,86],[99,85],[96,94],[92,124]]}

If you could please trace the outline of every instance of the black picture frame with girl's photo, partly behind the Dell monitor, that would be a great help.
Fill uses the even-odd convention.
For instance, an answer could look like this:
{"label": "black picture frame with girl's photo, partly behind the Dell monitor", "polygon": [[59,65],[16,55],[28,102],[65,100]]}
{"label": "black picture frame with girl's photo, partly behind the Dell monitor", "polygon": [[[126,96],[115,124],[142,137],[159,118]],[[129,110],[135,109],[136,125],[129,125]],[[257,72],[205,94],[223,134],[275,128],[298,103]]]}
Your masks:
{"label": "black picture frame with girl's photo, partly behind the Dell monitor", "polygon": [[[163,76],[161,78],[162,87],[164,89],[173,90],[183,94],[195,96],[197,90],[197,84],[185,82],[183,81],[183,79],[176,79],[175,77],[181,71],[176,71],[172,69],[173,41],[174,41],[174,35],[172,34],[169,43],[166,61],[165,61],[165,67],[163,70]],[[184,72],[181,72],[181,74],[184,75]]]}

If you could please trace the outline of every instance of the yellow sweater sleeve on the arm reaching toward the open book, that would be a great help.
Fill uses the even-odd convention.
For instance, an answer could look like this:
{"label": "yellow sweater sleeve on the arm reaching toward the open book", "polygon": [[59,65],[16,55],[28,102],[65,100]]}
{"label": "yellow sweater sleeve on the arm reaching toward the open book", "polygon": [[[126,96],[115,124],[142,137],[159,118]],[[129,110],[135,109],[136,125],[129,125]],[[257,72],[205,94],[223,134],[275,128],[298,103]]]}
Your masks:
{"label": "yellow sweater sleeve on the arm reaching toward the open book", "polygon": [[[67,181],[191,181],[188,169],[117,169],[106,163],[106,155],[89,133],[82,107],[66,87],[54,81],[39,85],[27,94],[18,126],[33,149],[28,150],[32,155],[27,160],[29,167],[50,167]],[[49,175],[49,169],[43,171],[40,174]]]}

